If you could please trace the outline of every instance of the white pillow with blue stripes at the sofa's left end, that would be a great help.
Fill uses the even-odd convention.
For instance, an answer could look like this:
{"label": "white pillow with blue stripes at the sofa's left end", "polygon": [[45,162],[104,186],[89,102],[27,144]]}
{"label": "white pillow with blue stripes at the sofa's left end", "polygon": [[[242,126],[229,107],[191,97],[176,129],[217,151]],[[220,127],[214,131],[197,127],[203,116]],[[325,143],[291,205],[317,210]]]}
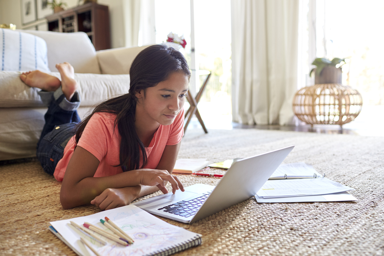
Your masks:
{"label": "white pillow with blue stripes at the sofa's left end", "polygon": [[0,71],[50,72],[47,45],[35,35],[0,29]]}

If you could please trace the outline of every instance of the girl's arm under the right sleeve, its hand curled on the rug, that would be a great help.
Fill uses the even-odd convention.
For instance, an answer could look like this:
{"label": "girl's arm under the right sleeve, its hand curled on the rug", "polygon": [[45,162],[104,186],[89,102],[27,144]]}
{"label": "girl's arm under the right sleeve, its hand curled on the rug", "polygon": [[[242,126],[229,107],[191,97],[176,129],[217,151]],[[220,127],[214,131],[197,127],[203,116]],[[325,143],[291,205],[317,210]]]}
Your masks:
{"label": "girl's arm under the right sleeve, its hand curled on the rug", "polygon": [[[172,173],[173,167],[175,166],[177,154],[179,153],[180,143],[176,145],[167,145],[164,149],[162,157],[156,169],[158,170],[168,170],[169,173]],[[184,191],[182,185],[179,186],[180,190]],[[157,186],[144,186],[139,185],[135,187],[126,187],[118,189],[106,189],[91,201],[92,204],[95,204],[102,210],[109,210],[112,208],[129,205],[131,201],[161,190],[164,194],[168,193],[167,188],[160,185]]]}

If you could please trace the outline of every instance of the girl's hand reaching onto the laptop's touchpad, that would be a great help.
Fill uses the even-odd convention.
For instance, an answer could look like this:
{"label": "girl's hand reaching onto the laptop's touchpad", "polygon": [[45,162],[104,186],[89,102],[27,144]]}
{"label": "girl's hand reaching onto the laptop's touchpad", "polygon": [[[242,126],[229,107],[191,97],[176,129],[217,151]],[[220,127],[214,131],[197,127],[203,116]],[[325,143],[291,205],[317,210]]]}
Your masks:
{"label": "girl's hand reaching onto the laptop's touchpad", "polygon": [[138,169],[140,184],[145,186],[157,186],[164,194],[168,193],[165,182],[172,185],[172,193],[180,188],[184,192],[184,186],[179,178],[169,174],[167,170]]}

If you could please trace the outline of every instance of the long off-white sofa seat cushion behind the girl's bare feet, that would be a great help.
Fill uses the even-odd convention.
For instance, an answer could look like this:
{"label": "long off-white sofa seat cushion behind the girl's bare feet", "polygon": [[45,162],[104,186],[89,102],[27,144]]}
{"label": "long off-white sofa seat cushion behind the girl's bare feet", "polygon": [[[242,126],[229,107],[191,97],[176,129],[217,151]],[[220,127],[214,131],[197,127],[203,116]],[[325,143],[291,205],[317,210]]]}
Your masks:
{"label": "long off-white sofa seat cushion behind the girl's bare feet", "polygon": [[[21,72],[0,71],[0,107],[41,107],[38,88],[31,88],[20,80]],[[60,79],[60,73],[49,73]],[[75,74],[79,83],[80,106],[93,106],[129,90],[129,75]]]}

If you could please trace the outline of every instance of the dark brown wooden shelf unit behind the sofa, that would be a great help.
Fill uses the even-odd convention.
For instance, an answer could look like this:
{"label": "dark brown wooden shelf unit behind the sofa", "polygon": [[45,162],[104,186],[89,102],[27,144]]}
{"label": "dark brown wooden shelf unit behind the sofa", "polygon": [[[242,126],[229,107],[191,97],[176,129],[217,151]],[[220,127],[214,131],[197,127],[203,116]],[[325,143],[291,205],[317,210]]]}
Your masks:
{"label": "dark brown wooden shelf unit behind the sofa", "polygon": [[56,32],[85,32],[96,51],[111,48],[108,6],[86,3],[45,17],[48,30]]}

